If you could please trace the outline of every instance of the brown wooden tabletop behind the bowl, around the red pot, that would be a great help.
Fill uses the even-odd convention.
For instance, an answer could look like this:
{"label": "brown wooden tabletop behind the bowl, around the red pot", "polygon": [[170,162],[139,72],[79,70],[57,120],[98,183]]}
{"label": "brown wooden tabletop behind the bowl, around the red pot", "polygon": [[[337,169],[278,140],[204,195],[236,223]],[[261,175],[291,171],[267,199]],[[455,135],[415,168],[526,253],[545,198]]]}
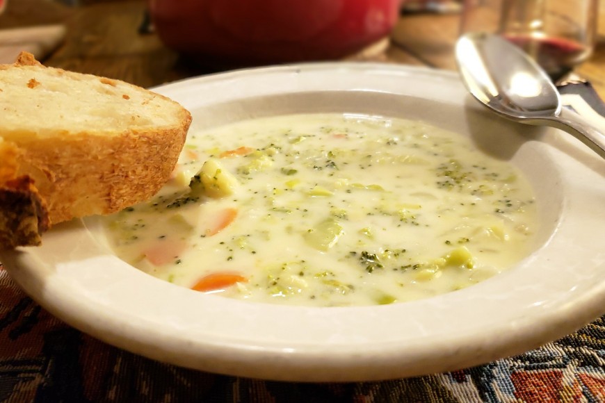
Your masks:
{"label": "brown wooden tabletop behind the bowl, around the red pot", "polygon": [[[145,1],[85,3],[86,6],[65,6],[48,0],[12,0],[0,16],[0,29],[64,23],[65,41],[44,60],[45,64],[143,87],[213,71],[212,67],[201,67],[167,49],[156,35],[138,33]],[[602,35],[595,53],[576,72],[590,80],[605,98],[605,3],[599,17]],[[402,15],[387,46],[368,49],[357,58],[453,70],[459,20],[458,14]]]}

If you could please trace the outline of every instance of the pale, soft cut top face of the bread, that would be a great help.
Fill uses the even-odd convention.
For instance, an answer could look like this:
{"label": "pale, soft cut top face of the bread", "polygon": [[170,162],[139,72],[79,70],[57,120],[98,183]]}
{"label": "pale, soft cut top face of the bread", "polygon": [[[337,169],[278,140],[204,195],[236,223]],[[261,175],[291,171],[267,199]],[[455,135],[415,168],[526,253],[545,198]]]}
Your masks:
{"label": "pale, soft cut top face of the bread", "polygon": [[66,125],[70,131],[104,136],[156,129],[170,126],[180,107],[122,81],[37,66],[4,67],[0,88],[2,130],[8,139],[23,131],[54,136]]}

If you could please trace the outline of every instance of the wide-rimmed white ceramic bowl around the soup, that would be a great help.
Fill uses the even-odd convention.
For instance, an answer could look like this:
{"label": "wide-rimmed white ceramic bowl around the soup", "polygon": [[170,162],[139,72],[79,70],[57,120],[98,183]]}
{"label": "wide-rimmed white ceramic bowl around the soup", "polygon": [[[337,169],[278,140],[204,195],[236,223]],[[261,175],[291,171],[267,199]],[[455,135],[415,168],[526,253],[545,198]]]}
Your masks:
{"label": "wide-rimmed white ceramic bowl around the soup", "polygon": [[204,295],[120,261],[94,220],[56,226],[44,245],[1,252],[10,275],[54,315],[131,352],[189,368],[293,381],[423,375],[524,352],[605,312],[605,163],[569,135],[508,123],[452,72],[372,64],[251,69],[158,92],[193,130],[282,113],[424,120],[471,136],[521,167],[542,227],[535,252],[476,286],[402,304],[312,308]]}

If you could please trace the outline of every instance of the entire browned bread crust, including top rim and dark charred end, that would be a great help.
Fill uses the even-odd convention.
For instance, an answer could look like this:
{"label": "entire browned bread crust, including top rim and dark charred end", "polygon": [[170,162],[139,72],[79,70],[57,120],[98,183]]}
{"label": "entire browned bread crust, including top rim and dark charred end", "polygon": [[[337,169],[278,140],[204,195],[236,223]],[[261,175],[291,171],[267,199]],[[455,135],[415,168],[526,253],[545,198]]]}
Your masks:
{"label": "entire browned bread crust, including top rim and dark charred end", "polygon": [[[6,135],[2,141],[0,122],[0,247],[40,245],[40,235],[51,224],[120,211],[152,197],[170,179],[191,124],[186,109],[122,81],[44,67],[26,52],[15,64],[0,65],[0,75],[15,68],[38,73],[51,69],[65,79],[66,88],[70,79],[81,77],[127,85],[170,106],[175,116],[168,125],[129,124],[110,135],[107,128],[97,132],[74,127],[50,135],[31,129],[15,134],[13,127],[10,141]],[[27,82],[32,90],[39,84],[35,78]]]}

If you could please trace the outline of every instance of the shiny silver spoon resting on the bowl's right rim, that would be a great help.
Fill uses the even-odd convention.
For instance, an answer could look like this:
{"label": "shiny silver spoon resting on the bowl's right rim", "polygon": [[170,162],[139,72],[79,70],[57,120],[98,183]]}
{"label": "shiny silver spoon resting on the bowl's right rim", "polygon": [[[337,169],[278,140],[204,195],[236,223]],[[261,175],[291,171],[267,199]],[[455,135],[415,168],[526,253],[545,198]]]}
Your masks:
{"label": "shiny silver spoon resting on the bowl's right rim", "polygon": [[516,122],[567,131],[605,158],[605,135],[561,105],[549,76],[521,49],[498,35],[467,33],[455,47],[467,89],[482,104]]}

